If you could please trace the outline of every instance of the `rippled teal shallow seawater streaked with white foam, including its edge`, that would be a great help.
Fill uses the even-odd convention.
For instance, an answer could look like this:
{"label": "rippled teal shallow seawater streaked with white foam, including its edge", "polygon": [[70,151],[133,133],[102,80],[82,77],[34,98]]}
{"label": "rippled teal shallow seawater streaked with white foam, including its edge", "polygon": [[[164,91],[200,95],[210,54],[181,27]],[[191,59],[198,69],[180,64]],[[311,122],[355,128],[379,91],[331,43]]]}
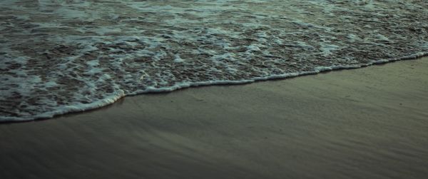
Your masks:
{"label": "rippled teal shallow seawater streaked with white foam, including its edge", "polygon": [[1,1],[0,121],[428,52],[427,1]]}

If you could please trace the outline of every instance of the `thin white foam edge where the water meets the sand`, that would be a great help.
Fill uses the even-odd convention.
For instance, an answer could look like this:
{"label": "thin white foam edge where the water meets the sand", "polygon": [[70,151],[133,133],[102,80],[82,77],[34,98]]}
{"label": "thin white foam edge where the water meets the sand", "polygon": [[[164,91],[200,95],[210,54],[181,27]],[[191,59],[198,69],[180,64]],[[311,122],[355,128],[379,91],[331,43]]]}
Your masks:
{"label": "thin white foam edge where the water meets the sand", "polygon": [[401,58],[389,58],[389,59],[380,59],[377,61],[370,61],[369,63],[361,64],[361,65],[355,65],[355,66],[319,66],[315,67],[314,71],[302,71],[297,73],[285,73],[280,75],[272,75],[272,76],[266,76],[266,77],[256,77],[256,78],[250,78],[248,80],[240,80],[240,81],[198,81],[193,83],[178,83],[174,86],[170,86],[168,88],[153,88],[148,87],[146,90],[141,91],[135,91],[133,93],[125,94],[123,90],[116,91],[108,98],[104,98],[102,100],[96,101],[94,103],[87,103],[87,104],[80,104],[78,106],[64,106],[56,111],[50,111],[46,113],[41,113],[36,116],[28,116],[28,117],[5,117],[0,116],[0,123],[4,122],[24,122],[24,121],[33,121],[37,119],[42,118],[53,118],[54,116],[59,116],[66,113],[74,113],[74,112],[81,112],[81,111],[88,111],[95,108],[101,108],[103,106],[107,106],[111,103],[114,103],[118,101],[118,99],[123,98],[124,96],[135,96],[143,93],[165,93],[170,91],[175,91],[182,88],[190,88],[190,87],[196,87],[196,86],[211,86],[211,85],[235,85],[235,84],[244,84],[244,83],[253,83],[255,81],[267,81],[272,79],[283,79],[283,78],[291,78],[296,76],[305,76],[310,74],[316,74],[320,72],[325,71],[335,71],[335,70],[341,70],[341,69],[352,69],[352,68],[362,68],[365,66],[372,66],[375,64],[383,64],[388,63],[392,61],[402,61],[402,60],[410,60],[410,59],[416,59],[421,58],[423,56],[428,56],[428,52],[420,52],[415,53],[410,56],[403,56]]}

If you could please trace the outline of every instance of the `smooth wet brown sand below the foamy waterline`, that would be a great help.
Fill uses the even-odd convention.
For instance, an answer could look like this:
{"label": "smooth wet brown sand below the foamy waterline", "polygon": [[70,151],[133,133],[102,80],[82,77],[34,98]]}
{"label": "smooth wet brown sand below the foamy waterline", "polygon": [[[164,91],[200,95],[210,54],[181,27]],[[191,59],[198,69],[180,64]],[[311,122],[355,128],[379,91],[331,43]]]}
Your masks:
{"label": "smooth wet brown sand below the foamy waterline", "polygon": [[0,178],[426,178],[428,58],[0,125]]}

